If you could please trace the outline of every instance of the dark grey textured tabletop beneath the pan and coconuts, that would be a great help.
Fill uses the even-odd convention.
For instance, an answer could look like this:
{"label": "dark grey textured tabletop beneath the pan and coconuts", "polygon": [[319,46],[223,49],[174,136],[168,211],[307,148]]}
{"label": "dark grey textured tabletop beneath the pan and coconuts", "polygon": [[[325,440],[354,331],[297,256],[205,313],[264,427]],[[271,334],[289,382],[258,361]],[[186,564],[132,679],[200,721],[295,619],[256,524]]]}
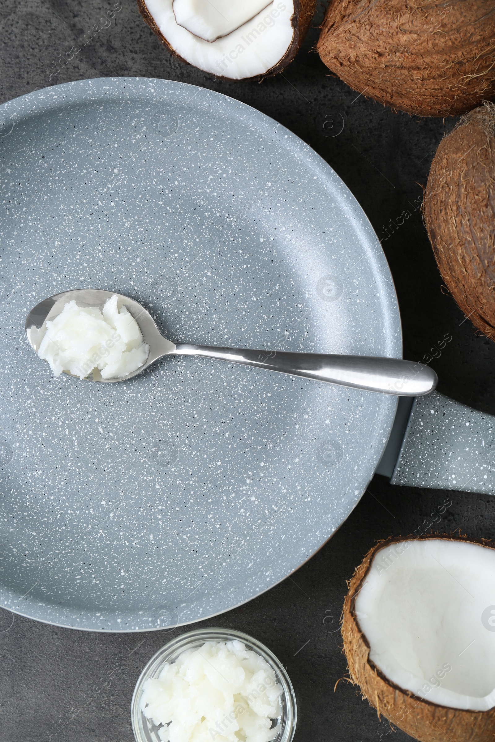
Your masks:
{"label": "dark grey textured tabletop beneath the pan and coconuts", "polygon": [[[0,102],[57,82],[137,75],[203,85],[277,119],[332,165],[383,240],[399,295],[404,355],[415,360],[436,355],[431,364],[439,391],[495,413],[495,345],[477,336],[442,292],[419,210],[420,184],[426,184],[436,146],[454,120],[394,114],[356,98],[312,51],[315,29],[283,76],[260,85],[217,82],[177,62],[131,0],[117,4],[122,9],[110,26],[74,54],[77,39],[95,32],[95,24],[101,27],[99,19],[112,7],[96,0],[2,0]],[[314,26],[321,17],[322,9]],[[61,56],[67,59],[63,67]],[[401,217],[404,211],[410,213],[407,219]],[[439,349],[430,352],[446,333],[453,339],[441,355]],[[335,631],[346,580],[376,539],[419,528],[427,532],[427,517],[446,498],[452,505],[439,530],[493,536],[491,496],[392,487],[379,476],[369,490],[340,531],[292,578],[201,624],[246,631],[280,657],[298,697],[298,742],[378,742],[391,733],[349,683],[342,681],[334,692],[347,668]],[[131,742],[129,709],[137,677],[151,655],[183,630],[87,634],[0,611],[0,742]],[[398,731],[393,739],[409,738]]]}

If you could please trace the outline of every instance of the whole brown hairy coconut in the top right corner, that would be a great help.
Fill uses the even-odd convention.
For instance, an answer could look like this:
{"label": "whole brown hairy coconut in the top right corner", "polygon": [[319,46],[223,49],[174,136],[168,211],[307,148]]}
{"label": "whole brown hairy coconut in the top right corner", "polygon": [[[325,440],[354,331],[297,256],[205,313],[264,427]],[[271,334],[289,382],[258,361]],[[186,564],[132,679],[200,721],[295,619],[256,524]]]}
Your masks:
{"label": "whole brown hairy coconut in the top right corner", "polygon": [[318,53],[353,90],[419,116],[495,95],[491,0],[332,0]]}

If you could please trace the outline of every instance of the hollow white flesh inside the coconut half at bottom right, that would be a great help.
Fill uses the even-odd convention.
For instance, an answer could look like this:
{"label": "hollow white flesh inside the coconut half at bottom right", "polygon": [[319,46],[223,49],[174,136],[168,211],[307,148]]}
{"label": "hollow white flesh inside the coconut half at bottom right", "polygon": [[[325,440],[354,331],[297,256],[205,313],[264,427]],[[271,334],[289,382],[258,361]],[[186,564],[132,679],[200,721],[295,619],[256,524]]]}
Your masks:
{"label": "hollow white flesh inside the coconut half at bottom right", "polygon": [[495,550],[448,539],[378,551],[355,617],[388,680],[440,706],[495,706]]}

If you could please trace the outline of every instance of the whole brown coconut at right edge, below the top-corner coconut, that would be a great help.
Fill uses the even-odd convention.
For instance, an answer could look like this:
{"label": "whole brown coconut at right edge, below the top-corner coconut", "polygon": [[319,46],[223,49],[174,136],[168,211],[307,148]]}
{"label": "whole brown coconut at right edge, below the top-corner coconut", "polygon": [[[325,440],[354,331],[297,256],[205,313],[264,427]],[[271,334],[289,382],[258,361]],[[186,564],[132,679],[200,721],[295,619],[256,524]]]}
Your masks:
{"label": "whole brown coconut at right edge, below the top-corner coconut", "polygon": [[495,341],[495,105],[463,116],[440,142],[424,194],[440,273],[474,326]]}

